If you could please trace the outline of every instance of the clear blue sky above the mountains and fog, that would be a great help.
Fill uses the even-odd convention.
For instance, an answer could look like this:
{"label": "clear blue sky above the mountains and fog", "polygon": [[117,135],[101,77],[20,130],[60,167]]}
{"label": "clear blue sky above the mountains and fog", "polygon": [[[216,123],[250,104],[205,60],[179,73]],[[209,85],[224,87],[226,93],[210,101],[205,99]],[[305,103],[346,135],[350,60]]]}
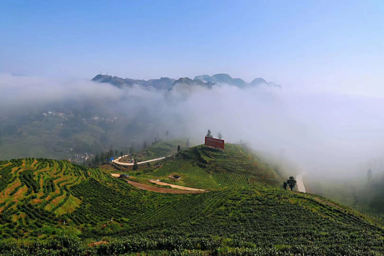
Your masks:
{"label": "clear blue sky above the mountains and fog", "polygon": [[383,1],[1,1],[0,31],[5,73],[384,82]]}

